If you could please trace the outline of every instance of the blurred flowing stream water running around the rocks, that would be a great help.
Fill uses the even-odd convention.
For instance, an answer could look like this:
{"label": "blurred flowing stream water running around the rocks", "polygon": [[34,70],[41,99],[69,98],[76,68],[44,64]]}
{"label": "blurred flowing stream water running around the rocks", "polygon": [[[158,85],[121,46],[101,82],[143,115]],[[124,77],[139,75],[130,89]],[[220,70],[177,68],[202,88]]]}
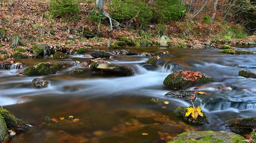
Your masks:
{"label": "blurred flowing stream water running around the rocks", "polygon": [[[236,48],[256,52],[256,47]],[[109,51],[104,47],[98,49]],[[33,126],[14,137],[12,142],[165,143],[185,131],[229,131],[226,127],[229,119],[256,116],[256,79],[238,76],[240,70],[256,73],[256,55],[220,54],[220,49],[133,47],[130,50],[139,55],[113,54],[114,59],[106,60],[130,67],[134,75],[126,77],[69,75],[72,69],[78,67],[72,66],[74,61],[90,60],[83,55],[62,60],[16,59],[24,65],[23,68],[40,62],[66,65],[64,70],[54,75],[24,77],[18,75],[22,69],[0,69],[0,106]],[[162,66],[145,64],[149,57],[141,53],[157,51],[168,52],[174,57],[163,57]],[[198,95],[194,104],[202,108],[211,124],[186,124],[173,114],[178,106],[191,104],[165,97],[168,91],[174,89],[164,86],[163,81],[168,74],[183,69],[200,71],[216,80],[187,89],[207,93]],[[50,84],[37,89],[31,83],[34,78],[47,78]],[[166,104],[167,108],[162,108],[151,102],[151,98],[170,103]],[[70,115],[80,121],[73,123],[68,119]],[[45,117],[56,118],[59,122],[47,122]],[[65,119],[61,120],[60,117]]]}

